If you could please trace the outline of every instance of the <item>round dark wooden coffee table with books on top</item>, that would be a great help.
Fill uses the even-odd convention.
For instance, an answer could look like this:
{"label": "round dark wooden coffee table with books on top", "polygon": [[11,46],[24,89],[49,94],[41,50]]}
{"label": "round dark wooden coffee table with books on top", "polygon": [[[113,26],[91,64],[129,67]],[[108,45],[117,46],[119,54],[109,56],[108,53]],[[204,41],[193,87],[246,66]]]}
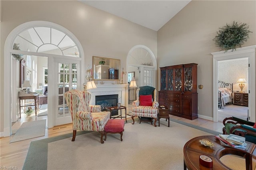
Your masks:
{"label": "round dark wooden coffee table with books on top", "polygon": [[[210,148],[200,144],[199,140],[206,139],[214,143],[214,147]],[[256,153],[254,149],[256,145],[251,142],[247,142],[246,149],[231,148],[222,146],[220,141],[216,139],[213,135],[210,136],[198,136],[192,138],[183,148],[184,153],[184,170],[188,168],[189,170],[208,170],[208,169],[230,169],[224,165],[220,158],[226,154],[233,154],[237,156],[242,156],[246,159],[246,170],[252,170],[255,168]],[[206,155],[212,158],[213,168],[206,168],[199,163],[199,156]]]}

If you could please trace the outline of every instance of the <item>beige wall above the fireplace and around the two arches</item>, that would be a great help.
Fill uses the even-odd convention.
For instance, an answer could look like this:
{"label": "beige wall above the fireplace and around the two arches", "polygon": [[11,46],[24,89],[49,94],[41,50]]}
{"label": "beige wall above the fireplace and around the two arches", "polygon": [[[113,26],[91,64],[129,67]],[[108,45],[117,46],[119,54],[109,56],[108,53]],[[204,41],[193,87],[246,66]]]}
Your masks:
{"label": "beige wall above the fireplace and around the two arches", "polygon": [[[72,32],[83,47],[85,62],[82,66],[85,68],[87,65],[92,66],[92,56],[101,56],[121,59],[120,67],[126,69],[126,56],[135,45],[145,45],[157,56],[156,31],[86,6],[79,1],[2,0],[1,7],[0,87],[4,85],[3,55],[8,34],[20,24],[35,20],[54,22]],[[127,79],[124,79],[124,83],[126,81]],[[0,89],[0,94],[4,94],[3,90]],[[0,132],[4,128],[3,122],[4,101],[1,97]]]}

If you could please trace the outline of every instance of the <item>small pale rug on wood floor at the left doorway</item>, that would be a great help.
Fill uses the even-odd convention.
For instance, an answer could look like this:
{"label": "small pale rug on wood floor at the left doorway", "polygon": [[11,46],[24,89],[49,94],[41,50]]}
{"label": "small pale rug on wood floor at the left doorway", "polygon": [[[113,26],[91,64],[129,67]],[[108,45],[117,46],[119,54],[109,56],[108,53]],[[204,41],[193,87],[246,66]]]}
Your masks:
{"label": "small pale rug on wood floor at the left doorway", "polygon": [[45,134],[46,120],[24,122],[11,138],[10,143],[37,138]]}

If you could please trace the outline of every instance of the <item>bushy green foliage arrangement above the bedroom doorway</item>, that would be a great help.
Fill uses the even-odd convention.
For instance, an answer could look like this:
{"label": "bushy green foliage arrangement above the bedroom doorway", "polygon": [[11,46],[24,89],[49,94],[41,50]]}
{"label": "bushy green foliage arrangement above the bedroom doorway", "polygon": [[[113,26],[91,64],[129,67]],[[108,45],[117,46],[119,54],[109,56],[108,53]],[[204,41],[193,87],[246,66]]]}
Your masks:
{"label": "bushy green foliage arrangement above the bedroom doorway", "polygon": [[226,26],[220,28],[217,32],[217,35],[213,39],[215,45],[220,48],[220,50],[232,51],[237,47],[242,47],[242,45],[248,40],[249,33],[252,33],[249,30],[249,26],[245,23],[238,24],[233,22],[232,25],[226,24]]}

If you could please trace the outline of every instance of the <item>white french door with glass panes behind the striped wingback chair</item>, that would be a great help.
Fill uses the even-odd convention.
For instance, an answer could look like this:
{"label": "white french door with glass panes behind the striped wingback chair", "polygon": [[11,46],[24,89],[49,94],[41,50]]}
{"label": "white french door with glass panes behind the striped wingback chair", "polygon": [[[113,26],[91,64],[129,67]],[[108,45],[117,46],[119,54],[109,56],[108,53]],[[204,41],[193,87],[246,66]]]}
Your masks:
{"label": "white french door with glass panes behind the striped wingback chair", "polygon": [[72,123],[64,93],[71,89],[79,89],[80,61],[54,59],[54,77],[54,126]]}

